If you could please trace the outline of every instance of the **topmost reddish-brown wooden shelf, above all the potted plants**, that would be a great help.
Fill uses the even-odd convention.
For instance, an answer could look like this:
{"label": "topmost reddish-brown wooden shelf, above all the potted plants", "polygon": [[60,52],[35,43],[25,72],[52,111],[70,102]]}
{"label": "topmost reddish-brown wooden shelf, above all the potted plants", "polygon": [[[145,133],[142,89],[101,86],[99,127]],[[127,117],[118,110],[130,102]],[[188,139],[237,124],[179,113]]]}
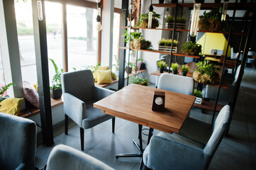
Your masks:
{"label": "topmost reddish-brown wooden shelf, above all the potted plants", "polygon": [[[194,3],[181,3],[177,4],[179,7],[187,7],[187,8],[193,8]],[[152,4],[152,6],[155,7],[176,7],[176,4]],[[228,10],[233,10],[235,7],[237,10],[247,10],[248,8],[253,8],[253,3],[238,3],[237,5],[235,3],[228,3]],[[223,7],[223,3],[203,3],[201,4],[201,9],[211,9],[216,7]]]}

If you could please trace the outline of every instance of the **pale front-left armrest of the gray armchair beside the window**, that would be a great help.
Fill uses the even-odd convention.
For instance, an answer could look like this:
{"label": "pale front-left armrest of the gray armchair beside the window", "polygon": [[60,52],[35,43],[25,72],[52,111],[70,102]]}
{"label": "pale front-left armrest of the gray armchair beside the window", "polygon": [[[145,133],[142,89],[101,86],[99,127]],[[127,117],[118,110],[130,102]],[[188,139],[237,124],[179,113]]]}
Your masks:
{"label": "pale front-left armrest of the gray armchair beside the window", "polygon": [[72,96],[72,94],[64,93],[64,111],[65,114],[74,120],[77,125],[82,127],[82,120],[86,118],[85,109],[86,105],[84,101]]}

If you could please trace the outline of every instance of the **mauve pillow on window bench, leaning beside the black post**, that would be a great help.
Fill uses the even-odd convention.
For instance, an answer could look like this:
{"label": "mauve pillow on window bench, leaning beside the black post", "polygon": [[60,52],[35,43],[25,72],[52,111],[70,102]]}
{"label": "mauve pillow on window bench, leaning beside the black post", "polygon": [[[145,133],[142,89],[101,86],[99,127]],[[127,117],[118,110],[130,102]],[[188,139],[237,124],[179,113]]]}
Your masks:
{"label": "mauve pillow on window bench, leaning beside the black post", "polygon": [[24,97],[36,108],[39,108],[39,96],[38,91],[28,82],[23,81],[23,93]]}

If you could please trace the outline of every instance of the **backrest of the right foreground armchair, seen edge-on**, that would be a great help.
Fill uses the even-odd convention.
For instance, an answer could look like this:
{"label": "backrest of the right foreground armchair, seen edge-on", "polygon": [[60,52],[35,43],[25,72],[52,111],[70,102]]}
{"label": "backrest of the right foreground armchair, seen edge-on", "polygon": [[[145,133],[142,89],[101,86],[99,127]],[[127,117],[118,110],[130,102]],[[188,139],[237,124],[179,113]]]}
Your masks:
{"label": "backrest of the right foreground armchair, seen edge-on", "polygon": [[213,125],[213,133],[208,140],[206,147],[204,147],[204,153],[209,157],[213,157],[218,145],[220,145],[223,136],[228,130],[228,126],[231,121],[230,106],[224,106],[215,120]]}

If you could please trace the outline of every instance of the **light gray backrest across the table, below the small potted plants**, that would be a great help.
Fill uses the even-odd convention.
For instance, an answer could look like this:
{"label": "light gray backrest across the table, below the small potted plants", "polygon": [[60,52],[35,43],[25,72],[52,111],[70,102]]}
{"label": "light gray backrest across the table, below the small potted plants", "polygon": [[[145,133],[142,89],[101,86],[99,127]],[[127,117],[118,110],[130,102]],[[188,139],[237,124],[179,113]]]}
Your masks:
{"label": "light gray backrest across the table, below the small potted plants", "polygon": [[174,91],[180,94],[193,94],[194,79],[191,77],[183,77],[175,74],[161,74],[158,89]]}

